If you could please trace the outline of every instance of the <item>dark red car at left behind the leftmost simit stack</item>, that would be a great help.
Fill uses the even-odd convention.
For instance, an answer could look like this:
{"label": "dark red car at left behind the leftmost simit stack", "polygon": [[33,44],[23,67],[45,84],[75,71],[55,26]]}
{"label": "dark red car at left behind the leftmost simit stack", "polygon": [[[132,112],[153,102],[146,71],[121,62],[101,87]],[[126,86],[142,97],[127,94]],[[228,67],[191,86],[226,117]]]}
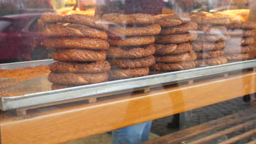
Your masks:
{"label": "dark red car at left behind the leftmost simit stack", "polygon": [[42,47],[42,13],[0,17],[0,62],[31,60],[31,51]]}

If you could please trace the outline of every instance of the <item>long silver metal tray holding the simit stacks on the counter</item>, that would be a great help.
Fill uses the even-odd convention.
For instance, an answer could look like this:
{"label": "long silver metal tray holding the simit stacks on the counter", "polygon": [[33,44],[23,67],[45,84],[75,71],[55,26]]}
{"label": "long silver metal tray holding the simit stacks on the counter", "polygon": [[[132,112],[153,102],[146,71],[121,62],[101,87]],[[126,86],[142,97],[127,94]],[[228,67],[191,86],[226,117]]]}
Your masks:
{"label": "long silver metal tray holding the simit stacks on the counter", "polygon": [[[31,67],[37,65],[48,65],[55,61],[43,60],[43,61],[31,61],[31,62],[20,62],[11,64],[0,64],[0,69],[13,69]],[[0,109],[3,111],[21,109],[24,107],[44,105],[49,103],[67,103],[67,100],[80,99],[84,97],[91,97],[95,95],[108,94],[113,92],[122,92],[129,89],[138,89],[144,87],[151,87],[155,85],[163,85],[164,83],[171,83],[177,81],[184,81],[189,79],[195,79],[199,77],[205,77],[210,75],[216,75],[226,73],[229,71],[242,70],[247,68],[256,67],[256,60],[243,61],[236,63],[228,63],[222,65],[216,65],[211,67],[196,68],[190,70],[175,71],[171,73],[158,74],[137,77],[132,79],[117,80],[110,82],[97,83],[93,85],[78,86],[72,88],[58,89],[50,91],[50,83],[47,81],[46,76],[36,77],[33,80],[26,81],[22,86],[24,87],[40,87],[39,92],[25,94],[25,95],[14,95],[13,97],[0,98]],[[41,83],[40,83],[40,82]],[[36,82],[36,83],[34,83]],[[39,83],[39,84],[38,84]],[[44,88],[42,88],[44,87]],[[0,89],[1,91],[1,89]],[[110,94],[109,94],[110,95]]]}

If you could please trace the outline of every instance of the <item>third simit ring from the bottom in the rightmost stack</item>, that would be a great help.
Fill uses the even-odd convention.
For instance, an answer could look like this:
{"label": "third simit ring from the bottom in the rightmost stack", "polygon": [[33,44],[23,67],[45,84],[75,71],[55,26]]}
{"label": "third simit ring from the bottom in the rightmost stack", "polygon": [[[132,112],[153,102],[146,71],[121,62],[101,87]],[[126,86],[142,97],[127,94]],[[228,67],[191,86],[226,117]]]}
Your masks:
{"label": "third simit ring from the bottom in the rightmost stack", "polygon": [[226,45],[251,45],[253,43],[253,37],[232,37],[226,41]]}

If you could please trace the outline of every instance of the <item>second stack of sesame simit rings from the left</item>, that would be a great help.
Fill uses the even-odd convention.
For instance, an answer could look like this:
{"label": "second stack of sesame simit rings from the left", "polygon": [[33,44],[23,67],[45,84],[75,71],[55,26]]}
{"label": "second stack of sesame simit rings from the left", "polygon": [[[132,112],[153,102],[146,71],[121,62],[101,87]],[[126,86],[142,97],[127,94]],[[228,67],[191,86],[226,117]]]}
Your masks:
{"label": "second stack of sesame simit rings from the left", "polygon": [[155,64],[154,35],[161,31],[154,24],[155,18],[148,14],[106,14],[102,19],[111,24],[107,50],[112,68],[109,80],[148,75],[149,67]]}

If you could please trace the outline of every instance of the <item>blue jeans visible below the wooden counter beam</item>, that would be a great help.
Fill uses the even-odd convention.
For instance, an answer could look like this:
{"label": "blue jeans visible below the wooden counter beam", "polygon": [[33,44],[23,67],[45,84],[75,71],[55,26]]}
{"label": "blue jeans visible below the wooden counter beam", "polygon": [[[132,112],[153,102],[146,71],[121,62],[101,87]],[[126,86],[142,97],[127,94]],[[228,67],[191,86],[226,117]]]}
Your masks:
{"label": "blue jeans visible below the wooden counter beam", "polygon": [[138,144],[148,141],[152,121],[114,130],[112,144]]}

